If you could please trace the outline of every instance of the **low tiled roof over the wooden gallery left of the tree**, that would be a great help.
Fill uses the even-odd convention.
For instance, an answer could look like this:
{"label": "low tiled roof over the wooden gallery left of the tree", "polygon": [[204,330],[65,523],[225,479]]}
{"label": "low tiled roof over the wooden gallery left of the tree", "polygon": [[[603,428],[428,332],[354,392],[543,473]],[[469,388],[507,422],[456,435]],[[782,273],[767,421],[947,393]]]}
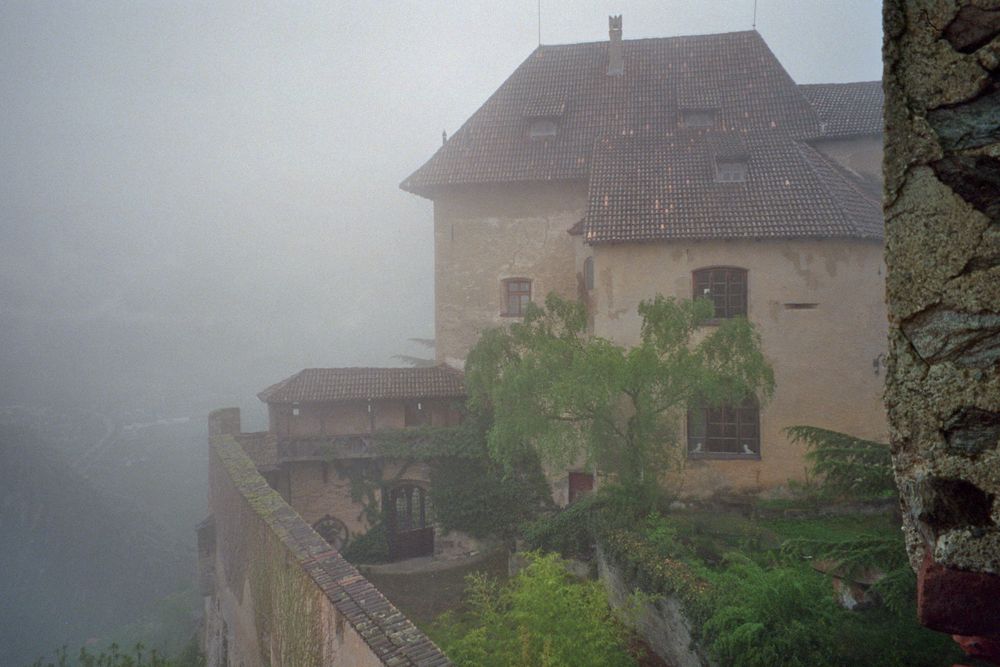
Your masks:
{"label": "low tiled roof over the wooden gallery left of the tree", "polygon": [[465,396],[461,371],[429,368],[307,368],[257,397],[265,403],[311,403],[383,398]]}

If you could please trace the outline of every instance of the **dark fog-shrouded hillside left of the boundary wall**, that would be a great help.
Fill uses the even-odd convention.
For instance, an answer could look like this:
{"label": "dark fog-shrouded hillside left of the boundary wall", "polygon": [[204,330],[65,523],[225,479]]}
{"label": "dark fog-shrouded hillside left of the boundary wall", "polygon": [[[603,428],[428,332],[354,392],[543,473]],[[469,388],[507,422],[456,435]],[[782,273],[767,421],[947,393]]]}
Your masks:
{"label": "dark fog-shrouded hillside left of the boundary wall", "polygon": [[101,475],[98,487],[64,446],[37,429],[0,425],[3,665],[100,637],[193,577],[191,545],[121,494],[134,484],[108,488]]}

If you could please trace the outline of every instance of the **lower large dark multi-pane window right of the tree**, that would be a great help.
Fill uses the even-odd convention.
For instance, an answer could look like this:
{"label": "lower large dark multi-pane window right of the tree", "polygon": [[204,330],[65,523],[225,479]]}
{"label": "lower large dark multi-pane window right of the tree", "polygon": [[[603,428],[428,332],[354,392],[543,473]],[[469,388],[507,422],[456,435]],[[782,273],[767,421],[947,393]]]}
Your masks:
{"label": "lower large dark multi-pane window right of the tree", "polygon": [[688,410],[688,455],[760,458],[759,413],[752,398],[735,406]]}

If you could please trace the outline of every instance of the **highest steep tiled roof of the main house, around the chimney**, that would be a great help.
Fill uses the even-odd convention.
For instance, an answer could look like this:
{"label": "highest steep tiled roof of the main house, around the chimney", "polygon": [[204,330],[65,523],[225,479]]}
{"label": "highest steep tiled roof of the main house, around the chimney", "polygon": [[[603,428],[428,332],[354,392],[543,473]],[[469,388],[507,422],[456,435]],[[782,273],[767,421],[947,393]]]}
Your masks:
{"label": "highest steep tiled roof of the main house, around the chimney", "polygon": [[[401,184],[433,196],[454,185],[587,180],[594,142],[665,135],[683,109],[711,109],[719,127],[819,133],[819,119],[756,32],[625,40],[624,74],[608,76],[607,42],[540,46]],[[535,115],[558,115],[554,137],[530,138]]]}

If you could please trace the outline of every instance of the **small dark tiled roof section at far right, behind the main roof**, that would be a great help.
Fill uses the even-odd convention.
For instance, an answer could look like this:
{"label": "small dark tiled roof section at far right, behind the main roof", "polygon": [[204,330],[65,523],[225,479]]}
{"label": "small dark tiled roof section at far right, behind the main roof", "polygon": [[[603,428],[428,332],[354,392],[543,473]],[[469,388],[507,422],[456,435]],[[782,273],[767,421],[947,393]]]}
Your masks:
{"label": "small dark tiled roof section at far right, behind the main roof", "polygon": [[882,133],[881,81],[803,84],[799,90],[819,114],[822,136]]}

